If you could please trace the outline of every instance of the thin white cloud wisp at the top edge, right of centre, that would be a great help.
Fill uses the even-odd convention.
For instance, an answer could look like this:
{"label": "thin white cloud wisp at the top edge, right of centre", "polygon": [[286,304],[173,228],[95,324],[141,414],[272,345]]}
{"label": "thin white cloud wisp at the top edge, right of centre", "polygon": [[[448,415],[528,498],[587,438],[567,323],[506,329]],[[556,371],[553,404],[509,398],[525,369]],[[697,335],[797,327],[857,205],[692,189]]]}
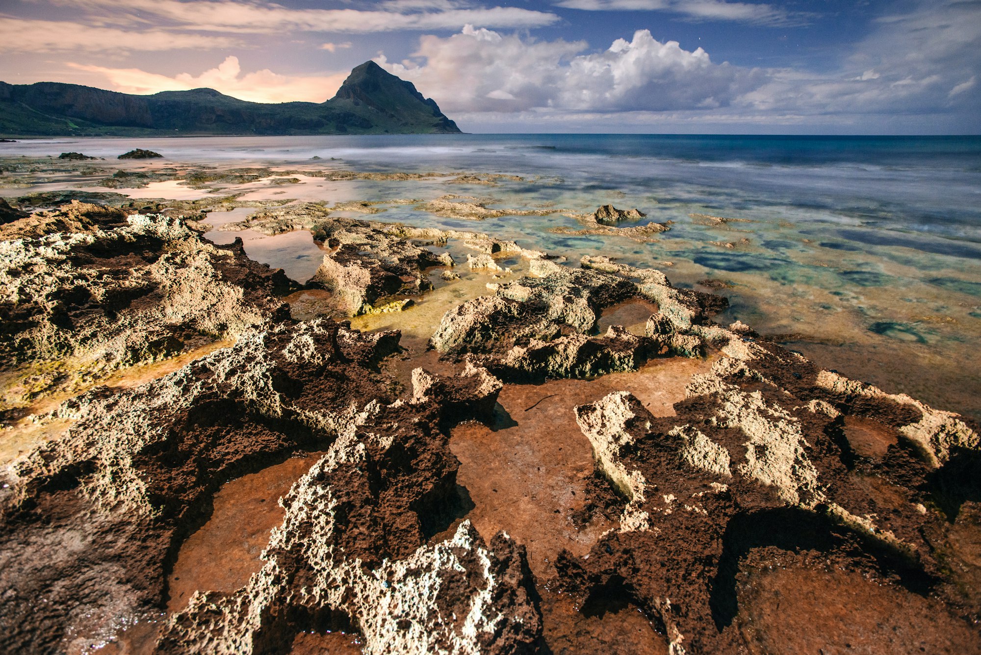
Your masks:
{"label": "thin white cloud wisp at the top edge, right of centre", "polygon": [[558,0],[554,4],[585,11],[664,11],[694,21],[734,21],[754,25],[802,25],[810,16],[773,5],[725,0]]}

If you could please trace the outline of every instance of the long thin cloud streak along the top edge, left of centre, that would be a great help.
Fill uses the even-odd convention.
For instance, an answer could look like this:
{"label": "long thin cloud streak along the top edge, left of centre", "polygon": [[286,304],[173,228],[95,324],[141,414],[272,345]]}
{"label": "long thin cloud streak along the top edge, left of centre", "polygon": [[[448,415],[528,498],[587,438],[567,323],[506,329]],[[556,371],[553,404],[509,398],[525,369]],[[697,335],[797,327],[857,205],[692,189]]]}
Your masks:
{"label": "long thin cloud streak along the top edge, left of centre", "polygon": [[[451,0],[396,0],[378,9],[290,9],[272,2],[234,0],[52,0],[97,13],[118,24],[144,25],[149,17],[182,29],[232,33],[284,30],[371,33],[397,30],[459,29],[468,23],[493,27],[541,27],[555,14],[519,7],[470,7]],[[107,19],[107,10],[112,12]]]}

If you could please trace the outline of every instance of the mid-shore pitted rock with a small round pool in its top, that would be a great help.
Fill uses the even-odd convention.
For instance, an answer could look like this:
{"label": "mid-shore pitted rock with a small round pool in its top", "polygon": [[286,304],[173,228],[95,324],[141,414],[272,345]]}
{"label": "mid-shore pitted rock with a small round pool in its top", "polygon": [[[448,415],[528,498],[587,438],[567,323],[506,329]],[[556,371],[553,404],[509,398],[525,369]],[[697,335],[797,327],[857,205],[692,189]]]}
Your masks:
{"label": "mid-shore pitted rock with a small round pool in its top", "polygon": [[[724,306],[717,297],[676,289],[658,271],[583,258],[581,269],[530,261],[534,277],[499,284],[494,295],[448,311],[430,340],[441,352],[471,353],[507,379],[602,375],[636,369],[658,354],[704,354],[693,331]],[[656,302],[645,336],[623,329],[591,337],[604,308],[631,298]],[[655,326],[650,327],[650,326]]]}

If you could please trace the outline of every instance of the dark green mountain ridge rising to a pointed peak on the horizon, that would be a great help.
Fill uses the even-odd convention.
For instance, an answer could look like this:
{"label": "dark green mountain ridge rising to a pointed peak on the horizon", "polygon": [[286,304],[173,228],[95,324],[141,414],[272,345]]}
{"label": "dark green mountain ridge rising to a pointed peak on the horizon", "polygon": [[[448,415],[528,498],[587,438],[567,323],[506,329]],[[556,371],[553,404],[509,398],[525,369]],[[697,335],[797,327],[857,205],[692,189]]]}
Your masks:
{"label": "dark green mountain ridge rising to a pointed peak on the horizon", "polygon": [[211,88],[130,95],[78,84],[0,82],[0,135],[458,134],[432,99],[375,62],[324,103],[246,102]]}

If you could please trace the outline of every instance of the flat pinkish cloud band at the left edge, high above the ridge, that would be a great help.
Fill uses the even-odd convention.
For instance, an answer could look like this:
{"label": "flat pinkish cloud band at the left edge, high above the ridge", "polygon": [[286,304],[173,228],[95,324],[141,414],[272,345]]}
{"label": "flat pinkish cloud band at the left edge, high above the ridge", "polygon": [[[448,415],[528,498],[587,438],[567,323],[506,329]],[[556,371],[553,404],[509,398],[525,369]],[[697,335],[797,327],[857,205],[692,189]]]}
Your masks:
{"label": "flat pinkish cloud band at the left edge, high above the ridge", "polygon": [[237,38],[173,32],[142,31],[79,25],[68,21],[38,21],[0,15],[0,52],[163,51],[193,48],[215,50],[240,46]]}

